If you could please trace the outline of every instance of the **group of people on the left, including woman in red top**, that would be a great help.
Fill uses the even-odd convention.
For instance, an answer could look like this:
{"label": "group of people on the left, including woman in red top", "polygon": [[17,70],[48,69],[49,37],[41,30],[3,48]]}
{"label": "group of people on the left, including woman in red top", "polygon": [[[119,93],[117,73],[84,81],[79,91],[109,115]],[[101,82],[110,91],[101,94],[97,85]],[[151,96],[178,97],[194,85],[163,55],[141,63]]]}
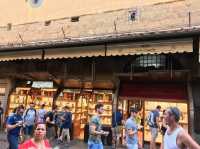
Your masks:
{"label": "group of people on the left, including woman in red top", "polygon": [[64,146],[70,142],[72,114],[68,106],[58,112],[57,106],[51,111],[45,110],[42,104],[36,110],[33,102],[25,109],[19,106],[6,119],[7,140],[9,149],[49,149],[53,140]]}

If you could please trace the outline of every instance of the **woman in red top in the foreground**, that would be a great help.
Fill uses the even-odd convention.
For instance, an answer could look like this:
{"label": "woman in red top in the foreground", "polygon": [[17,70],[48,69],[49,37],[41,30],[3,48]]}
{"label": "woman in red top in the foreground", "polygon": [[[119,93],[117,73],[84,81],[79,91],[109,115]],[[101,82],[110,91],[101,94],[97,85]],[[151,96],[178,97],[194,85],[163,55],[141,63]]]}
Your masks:
{"label": "woman in red top in the foreground", "polygon": [[46,137],[46,125],[38,123],[34,131],[34,137],[25,141],[19,149],[52,149]]}

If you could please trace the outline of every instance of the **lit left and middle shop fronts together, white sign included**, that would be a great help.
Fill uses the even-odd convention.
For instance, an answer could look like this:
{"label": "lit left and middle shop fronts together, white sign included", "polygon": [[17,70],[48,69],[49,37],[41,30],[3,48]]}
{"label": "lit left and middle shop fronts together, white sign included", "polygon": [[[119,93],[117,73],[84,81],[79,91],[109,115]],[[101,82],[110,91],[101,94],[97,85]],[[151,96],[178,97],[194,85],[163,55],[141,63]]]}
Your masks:
{"label": "lit left and middle shop fronts together, white sign included", "polygon": [[71,137],[86,140],[88,136],[86,127],[88,127],[91,116],[95,114],[95,105],[102,103],[105,108],[102,124],[105,129],[111,130],[113,90],[63,88],[58,96],[56,94],[58,94],[58,87],[53,85],[51,81],[24,81],[21,85],[18,84],[10,94],[7,115],[11,114],[19,105],[23,105],[27,109],[31,102],[35,103],[36,110],[42,104],[45,104],[47,111],[51,111],[53,105],[57,105],[59,113],[62,113],[64,106],[68,106],[72,112],[73,120]]}

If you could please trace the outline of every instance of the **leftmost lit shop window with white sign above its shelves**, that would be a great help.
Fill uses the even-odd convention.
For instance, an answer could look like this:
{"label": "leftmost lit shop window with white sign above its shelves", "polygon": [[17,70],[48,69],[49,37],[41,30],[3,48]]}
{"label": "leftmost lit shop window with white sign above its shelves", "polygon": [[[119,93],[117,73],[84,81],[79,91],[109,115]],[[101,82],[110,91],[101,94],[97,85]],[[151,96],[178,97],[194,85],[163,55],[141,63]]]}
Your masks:
{"label": "leftmost lit shop window with white sign above its shelves", "polygon": [[24,81],[10,93],[6,114],[12,113],[19,105],[28,108],[30,102],[35,103],[36,110],[45,104],[45,109],[49,111],[52,109],[56,91],[51,81],[34,81],[33,84],[30,84],[30,81]]}

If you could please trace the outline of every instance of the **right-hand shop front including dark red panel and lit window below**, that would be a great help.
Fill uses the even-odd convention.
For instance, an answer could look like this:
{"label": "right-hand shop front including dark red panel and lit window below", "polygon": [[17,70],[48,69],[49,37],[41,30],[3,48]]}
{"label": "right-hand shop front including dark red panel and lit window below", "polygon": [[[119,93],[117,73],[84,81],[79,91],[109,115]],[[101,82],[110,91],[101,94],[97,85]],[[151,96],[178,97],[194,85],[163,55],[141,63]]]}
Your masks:
{"label": "right-hand shop front including dark red panel and lit window below", "polygon": [[[186,84],[183,82],[122,82],[119,91],[118,107],[123,109],[123,118],[128,118],[130,107],[140,110],[139,124],[144,129],[139,131],[141,145],[149,143],[151,133],[147,125],[148,113],[161,106],[160,125],[162,125],[163,110],[168,107],[178,107],[181,111],[180,125],[188,131],[189,128],[189,102]],[[159,132],[156,142],[162,142],[162,134]]]}

